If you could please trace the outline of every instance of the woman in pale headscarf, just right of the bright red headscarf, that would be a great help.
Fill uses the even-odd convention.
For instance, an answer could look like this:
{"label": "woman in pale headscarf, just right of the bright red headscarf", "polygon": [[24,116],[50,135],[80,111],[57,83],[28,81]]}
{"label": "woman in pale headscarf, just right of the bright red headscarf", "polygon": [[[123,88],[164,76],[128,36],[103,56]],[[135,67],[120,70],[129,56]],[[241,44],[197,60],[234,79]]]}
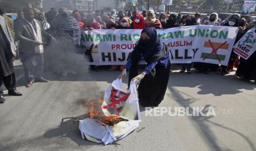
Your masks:
{"label": "woman in pale headscarf, just right of the bright red headscarf", "polygon": [[146,12],[146,27],[155,27],[156,29],[162,28],[160,20],[156,19],[154,10],[148,10]]}

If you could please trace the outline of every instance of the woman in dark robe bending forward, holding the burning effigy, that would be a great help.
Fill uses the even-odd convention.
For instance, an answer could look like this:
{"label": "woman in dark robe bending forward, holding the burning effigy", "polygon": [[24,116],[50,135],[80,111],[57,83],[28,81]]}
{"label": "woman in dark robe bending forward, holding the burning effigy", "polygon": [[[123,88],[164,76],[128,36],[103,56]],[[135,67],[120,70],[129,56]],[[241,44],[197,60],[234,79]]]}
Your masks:
{"label": "woman in dark robe bending forward, holding the burning effigy", "polygon": [[[148,63],[144,71],[138,75],[138,63],[141,58]],[[138,97],[141,106],[156,107],[164,100],[170,75],[170,51],[157,36],[154,27],[146,27],[140,36],[138,44],[118,78],[125,78],[129,70],[129,82],[140,81]]]}

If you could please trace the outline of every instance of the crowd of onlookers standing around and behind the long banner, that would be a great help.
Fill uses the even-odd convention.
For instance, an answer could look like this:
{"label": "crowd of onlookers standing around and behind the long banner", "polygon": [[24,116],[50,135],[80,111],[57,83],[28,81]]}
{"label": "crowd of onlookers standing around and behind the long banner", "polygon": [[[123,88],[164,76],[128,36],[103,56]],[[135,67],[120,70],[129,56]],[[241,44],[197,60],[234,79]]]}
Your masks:
{"label": "crowd of onlookers standing around and behind the long banner", "polygon": [[[21,95],[15,88],[15,74],[13,59],[17,50],[15,41],[18,42],[18,52],[23,63],[26,87],[32,86],[34,82],[48,82],[43,78],[43,69],[67,76],[75,74],[74,67],[70,64],[76,62],[72,53],[80,52],[81,32],[86,30],[104,29],[141,29],[154,27],[155,29],[167,29],[180,26],[213,25],[238,27],[236,42],[251,28],[255,27],[256,21],[249,24],[239,14],[228,16],[221,21],[217,13],[206,16],[182,15],[167,13],[156,13],[154,10],[132,12],[111,10],[109,14],[105,10],[91,11],[69,11],[55,8],[46,13],[38,9],[24,8],[18,11],[16,20],[10,19],[0,10],[0,86],[2,84],[8,89],[9,95]],[[2,43],[3,42],[3,43]],[[54,51],[53,51],[54,50]],[[46,61],[45,61],[46,60]],[[48,64],[48,66],[47,66]],[[61,64],[61,65],[60,65]],[[55,65],[55,66],[51,66]],[[181,65],[180,73],[192,73],[194,67],[200,73],[208,74],[210,71],[220,70],[225,75],[237,67],[237,77],[247,80],[256,80],[256,53],[248,60],[239,58],[232,52],[228,66],[213,65],[210,63],[186,63]],[[98,70],[97,66],[91,66]],[[111,69],[124,66],[111,66]],[[170,66],[170,72],[172,71]],[[255,82],[256,83],[256,82]],[[3,89],[0,89],[0,102],[4,102]]]}

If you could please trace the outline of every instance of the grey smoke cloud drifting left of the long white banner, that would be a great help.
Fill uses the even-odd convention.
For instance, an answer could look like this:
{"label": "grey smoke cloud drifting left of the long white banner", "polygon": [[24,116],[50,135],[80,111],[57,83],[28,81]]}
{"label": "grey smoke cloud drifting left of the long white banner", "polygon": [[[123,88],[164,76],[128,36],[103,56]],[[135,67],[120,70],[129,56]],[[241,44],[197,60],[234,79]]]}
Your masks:
{"label": "grey smoke cloud drifting left of the long white banner", "polygon": [[88,73],[84,52],[73,44],[69,34],[64,32],[51,32],[57,43],[52,40],[45,47],[45,68],[47,71],[67,77],[69,74],[79,75]]}

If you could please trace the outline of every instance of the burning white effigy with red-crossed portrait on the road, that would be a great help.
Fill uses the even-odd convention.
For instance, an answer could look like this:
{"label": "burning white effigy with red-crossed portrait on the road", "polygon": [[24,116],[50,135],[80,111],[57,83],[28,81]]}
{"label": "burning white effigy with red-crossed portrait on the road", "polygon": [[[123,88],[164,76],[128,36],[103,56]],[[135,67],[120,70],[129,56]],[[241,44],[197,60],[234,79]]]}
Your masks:
{"label": "burning white effigy with red-crossed portrait on the road", "polygon": [[85,140],[113,143],[126,137],[139,126],[140,111],[135,82],[128,91],[122,87],[122,79],[116,79],[105,91],[104,98],[86,103],[90,118],[79,120],[81,137]]}

